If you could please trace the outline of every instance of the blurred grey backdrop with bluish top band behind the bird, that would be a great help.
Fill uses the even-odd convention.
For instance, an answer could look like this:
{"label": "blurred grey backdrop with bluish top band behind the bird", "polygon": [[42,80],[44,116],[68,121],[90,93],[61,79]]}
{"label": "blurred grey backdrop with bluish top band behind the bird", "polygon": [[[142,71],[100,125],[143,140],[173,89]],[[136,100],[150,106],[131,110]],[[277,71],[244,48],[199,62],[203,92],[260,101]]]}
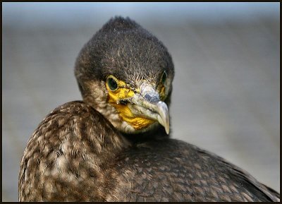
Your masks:
{"label": "blurred grey backdrop with bluish top band behind the bird", "polygon": [[280,191],[279,3],[2,3],[2,199],[18,200],[28,138],[55,107],[81,99],[75,58],[117,15],[171,52],[173,138]]}

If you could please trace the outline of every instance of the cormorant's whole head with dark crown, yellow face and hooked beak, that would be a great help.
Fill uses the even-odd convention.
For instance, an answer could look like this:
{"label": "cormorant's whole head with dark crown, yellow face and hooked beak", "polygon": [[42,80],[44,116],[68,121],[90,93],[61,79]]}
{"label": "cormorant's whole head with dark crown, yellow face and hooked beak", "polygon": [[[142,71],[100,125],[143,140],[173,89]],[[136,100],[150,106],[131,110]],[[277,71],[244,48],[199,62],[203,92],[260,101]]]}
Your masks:
{"label": "cormorant's whole head with dark crown, yellow face and hooked beak", "polygon": [[164,126],[174,76],[164,44],[130,18],[111,18],[80,51],[75,76],[83,100],[122,133]]}

